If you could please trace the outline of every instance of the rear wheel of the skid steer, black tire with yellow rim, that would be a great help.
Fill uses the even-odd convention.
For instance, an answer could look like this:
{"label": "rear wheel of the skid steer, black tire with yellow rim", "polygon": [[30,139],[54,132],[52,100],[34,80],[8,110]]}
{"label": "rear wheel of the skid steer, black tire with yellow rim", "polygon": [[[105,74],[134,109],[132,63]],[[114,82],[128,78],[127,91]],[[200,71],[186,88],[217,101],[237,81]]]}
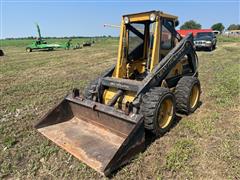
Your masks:
{"label": "rear wheel of the skid steer, black tire with yellow rim", "polygon": [[201,85],[197,77],[184,76],[176,86],[176,110],[179,113],[191,114],[199,106]]}

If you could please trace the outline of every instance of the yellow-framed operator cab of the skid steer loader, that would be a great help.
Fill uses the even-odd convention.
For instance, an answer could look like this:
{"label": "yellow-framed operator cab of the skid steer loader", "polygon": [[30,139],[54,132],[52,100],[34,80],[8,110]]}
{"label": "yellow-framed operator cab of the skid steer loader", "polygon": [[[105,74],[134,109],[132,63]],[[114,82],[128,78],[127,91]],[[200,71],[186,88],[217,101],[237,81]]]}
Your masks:
{"label": "yellow-framed operator cab of the skid steer loader", "polygon": [[143,80],[175,46],[164,23],[174,29],[176,21],[176,16],[159,11],[123,16],[115,77]]}

